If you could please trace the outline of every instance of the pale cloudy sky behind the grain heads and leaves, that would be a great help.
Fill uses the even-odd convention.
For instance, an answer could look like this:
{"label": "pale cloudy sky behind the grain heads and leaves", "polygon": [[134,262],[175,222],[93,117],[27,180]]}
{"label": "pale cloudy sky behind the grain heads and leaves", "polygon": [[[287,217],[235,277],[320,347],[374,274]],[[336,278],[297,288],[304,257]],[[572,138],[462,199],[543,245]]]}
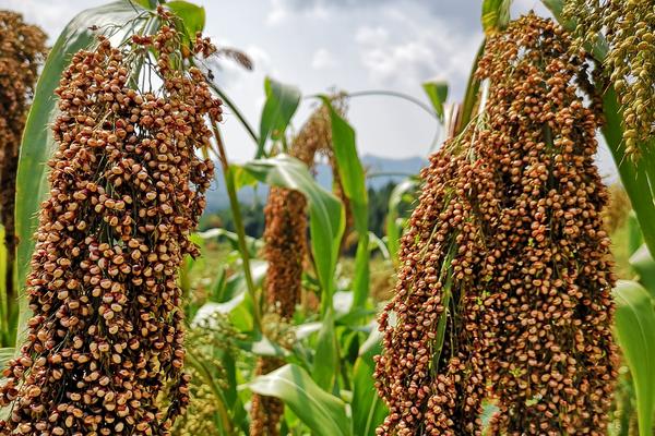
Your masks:
{"label": "pale cloudy sky behind the grain heads and leaves", "polygon": [[[76,13],[104,0],[0,0],[22,12],[53,41]],[[259,126],[263,78],[294,84],[303,95],[331,89],[401,92],[428,102],[421,83],[444,78],[451,100],[460,99],[471,62],[483,39],[479,0],[196,0],[206,9],[206,34],[219,46],[236,47],[254,61],[247,72],[222,61],[216,80],[247,119]],[[515,0],[513,16],[538,0]],[[311,110],[305,99],[294,128]],[[348,118],[362,154],[427,156],[437,129],[420,108],[391,97],[350,100]],[[226,109],[228,154],[250,158],[254,145]],[[605,159],[602,159],[605,160]]]}

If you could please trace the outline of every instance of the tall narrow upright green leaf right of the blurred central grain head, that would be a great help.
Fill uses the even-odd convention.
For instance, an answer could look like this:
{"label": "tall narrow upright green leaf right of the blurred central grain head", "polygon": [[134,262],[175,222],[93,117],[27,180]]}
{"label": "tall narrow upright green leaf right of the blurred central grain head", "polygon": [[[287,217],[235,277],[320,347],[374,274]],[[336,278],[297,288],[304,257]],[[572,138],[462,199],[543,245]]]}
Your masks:
{"label": "tall narrow upright green leaf right of the blurred central grain head", "polygon": [[368,232],[368,192],[366,190],[366,174],[355,141],[355,130],[334,109],[330,98],[322,96],[323,104],[330,109],[332,121],[332,149],[336,159],[338,177],[344,194],[350,203],[355,229],[358,234],[357,254],[355,255],[355,278],[353,292],[355,299],[353,307],[362,307],[369,294],[370,266],[369,266],[369,232]]}

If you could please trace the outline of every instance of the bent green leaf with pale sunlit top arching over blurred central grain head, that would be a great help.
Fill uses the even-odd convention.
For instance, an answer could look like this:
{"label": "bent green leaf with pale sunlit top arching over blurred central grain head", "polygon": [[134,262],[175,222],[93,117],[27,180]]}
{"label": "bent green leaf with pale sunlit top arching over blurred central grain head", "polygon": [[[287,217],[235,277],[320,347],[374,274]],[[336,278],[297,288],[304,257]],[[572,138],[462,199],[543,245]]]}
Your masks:
{"label": "bent green leaf with pale sunlit top arching over blurred central grain head", "polygon": [[317,183],[305,164],[288,155],[252,160],[243,168],[263,183],[296,190],[307,197],[311,251],[323,291],[322,301],[331,302],[334,269],[345,226],[342,203]]}

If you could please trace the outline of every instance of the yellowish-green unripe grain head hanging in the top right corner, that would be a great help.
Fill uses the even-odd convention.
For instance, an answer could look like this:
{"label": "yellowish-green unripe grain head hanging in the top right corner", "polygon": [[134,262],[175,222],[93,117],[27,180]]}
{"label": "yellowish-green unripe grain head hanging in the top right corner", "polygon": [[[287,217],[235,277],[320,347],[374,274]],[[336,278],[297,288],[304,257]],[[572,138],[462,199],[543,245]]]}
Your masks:
{"label": "yellowish-green unripe grain head hanging in the top right corner", "polygon": [[[623,140],[629,155],[655,135],[655,8],[648,0],[571,0],[564,16],[577,23],[582,41],[596,45],[605,36],[604,70],[622,106]],[[597,45],[599,47],[600,45]],[[602,51],[602,50],[598,50]]]}

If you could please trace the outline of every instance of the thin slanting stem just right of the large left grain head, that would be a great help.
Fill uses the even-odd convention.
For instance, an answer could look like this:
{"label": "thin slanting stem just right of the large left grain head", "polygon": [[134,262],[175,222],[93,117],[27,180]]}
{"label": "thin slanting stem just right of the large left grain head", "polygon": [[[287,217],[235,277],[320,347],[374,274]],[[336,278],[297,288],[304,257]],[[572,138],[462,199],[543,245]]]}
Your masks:
{"label": "thin slanting stem just right of the large left grain head", "polygon": [[248,244],[246,243],[246,229],[243,227],[243,219],[241,218],[241,209],[239,207],[239,199],[237,198],[237,190],[235,187],[235,180],[229,169],[229,162],[225,153],[225,146],[223,145],[223,138],[218,131],[216,120],[212,118],[212,131],[214,132],[214,138],[216,140],[215,150],[221,166],[223,167],[223,178],[225,180],[225,187],[229,197],[229,207],[231,209],[233,219],[235,220],[235,230],[239,243],[239,252],[241,253],[241,261],[243,263],[243,275],[246,276],[246,286],[248,287],[248,293],[252,299],[252,315],[254,317],[254,326],[263,334],[262,330],[262,314],[260,311],[259,299],[257,295],[257,289],[254,281],[252,280],[252,270],[250,269],[250,253],[248,252]]}

